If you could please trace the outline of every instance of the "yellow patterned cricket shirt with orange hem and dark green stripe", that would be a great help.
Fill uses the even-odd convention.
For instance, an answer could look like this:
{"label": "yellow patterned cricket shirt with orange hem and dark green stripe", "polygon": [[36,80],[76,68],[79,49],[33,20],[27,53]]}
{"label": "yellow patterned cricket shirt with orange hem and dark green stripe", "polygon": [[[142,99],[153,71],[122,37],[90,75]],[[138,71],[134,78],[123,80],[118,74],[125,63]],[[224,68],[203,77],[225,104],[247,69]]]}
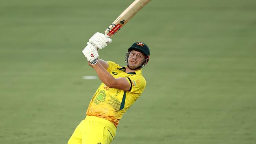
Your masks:
{"label": "yellow patterned cricket shirt with orange hem and dark green stripe", "polygon": [[108,61],[108,72],[115,78],[125,77],[132,85],[129,91],[113,89],[107,87],[104,83],[98,87],[89,107],[87,116],[97,116],[111,121],[116,127],[122,115],[139,98],[146,87],[146,81],[141,75],[141,70],[126,73],[125,67]]}

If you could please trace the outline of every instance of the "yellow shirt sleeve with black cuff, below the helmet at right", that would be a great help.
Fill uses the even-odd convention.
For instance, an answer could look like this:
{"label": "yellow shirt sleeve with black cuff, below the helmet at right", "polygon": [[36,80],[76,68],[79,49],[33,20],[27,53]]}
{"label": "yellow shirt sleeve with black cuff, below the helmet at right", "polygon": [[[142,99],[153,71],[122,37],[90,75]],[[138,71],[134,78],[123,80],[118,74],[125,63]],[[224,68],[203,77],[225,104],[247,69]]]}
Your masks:
{"label": "yellow shirt sleeve with black cuff, below the helmet at right", "polygon": [[146,80],[143,76],[132,75],[126,77],[126,79],[131,85],[131,93],[141,94],[146,87]]}

